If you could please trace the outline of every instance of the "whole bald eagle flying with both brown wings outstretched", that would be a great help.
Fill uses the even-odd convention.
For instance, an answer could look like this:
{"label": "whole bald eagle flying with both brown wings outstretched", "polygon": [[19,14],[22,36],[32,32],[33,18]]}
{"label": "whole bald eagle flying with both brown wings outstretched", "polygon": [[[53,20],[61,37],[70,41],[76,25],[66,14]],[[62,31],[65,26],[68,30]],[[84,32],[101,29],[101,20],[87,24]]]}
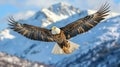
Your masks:
{"label": "whole bald eagle flying with both brown wings outstretched", "polygon": [[94,14],[78,19],[65,27],[58,28],[53,26],[51,29],[36,27],[28,24],[22,24],[10,17],[8,21],[11,29],[22,34],[23,36],[38,41],[57,42],[52,53],[70,54],[78,49],[79,45],[69,41],[70,38],[87,32],[95,27],[101,20],[108,16],[110,6],[108,3],[103,4]]}

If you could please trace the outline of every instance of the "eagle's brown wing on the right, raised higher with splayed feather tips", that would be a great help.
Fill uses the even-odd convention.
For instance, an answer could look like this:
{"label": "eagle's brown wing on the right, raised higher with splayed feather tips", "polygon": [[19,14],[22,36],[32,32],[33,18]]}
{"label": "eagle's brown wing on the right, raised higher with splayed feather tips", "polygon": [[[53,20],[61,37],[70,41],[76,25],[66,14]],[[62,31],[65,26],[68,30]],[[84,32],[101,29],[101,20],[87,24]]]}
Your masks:
{"label": "eagle's brown wing on the right, raised higher with splayed feather tips", "polygon": [[101,20],[105,19],[105,16],[109,15],[107,14],[110,11],[109,8],[109,4],[105,3],[96,13],[88,15],[82,19],[66,25],[65,27],[62,27],[61,29],[64,31],[66,38],[70,39],[71,37],[74,37],[80,33],[84,33],[96,26],[98,23],[100,23]]}

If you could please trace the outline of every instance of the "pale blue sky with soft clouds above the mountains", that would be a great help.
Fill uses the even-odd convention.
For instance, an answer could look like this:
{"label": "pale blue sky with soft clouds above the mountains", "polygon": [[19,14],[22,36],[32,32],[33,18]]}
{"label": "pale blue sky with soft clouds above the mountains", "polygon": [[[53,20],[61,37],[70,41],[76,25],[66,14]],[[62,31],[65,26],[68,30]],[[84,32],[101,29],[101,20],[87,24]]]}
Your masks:
{"label": "pale blue sky with soft clouds above the mountains", "polygon": [[[83,0],[1,0],[0,19],[3,17],[6,17],[7,15],[11,15],[11,14],[15,14],[15,13],[19,13],[27,10],[38,11],[43,7],[49,7],[51,4],[61,2],[61,1],[68,2],[73,6],[84,5],[86,9],[88,7],[87,4],[91,3],[90,1],[100,2],[100,0],[96,0],[96,1],[95,0],[86,0],[86,1],[85,0],[84,1]],[[112,1],[113,4],[120,6],[120,0],[110,0],[110,1]]]}

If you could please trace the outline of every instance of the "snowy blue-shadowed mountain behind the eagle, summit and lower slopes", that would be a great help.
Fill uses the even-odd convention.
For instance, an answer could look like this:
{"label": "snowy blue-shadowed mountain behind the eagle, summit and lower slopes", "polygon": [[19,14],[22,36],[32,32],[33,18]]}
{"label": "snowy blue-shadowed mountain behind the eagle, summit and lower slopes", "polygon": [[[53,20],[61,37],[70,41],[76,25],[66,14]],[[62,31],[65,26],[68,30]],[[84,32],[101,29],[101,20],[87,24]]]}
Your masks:
{"label": "snowy blue-shadowed mountain behind the eagle, summit and lower slopes", "polygon": [[[36,12],[26,20],[20,19],[19,22],[50,29],[51,26],[54,25],[57,27],[65,26],[79,18],[91,14],[92,12],[93,11],[90,12],[89,10],[79,10],[66,3],[58,3],[49,8],[43,8],[41,11]],[[74,61],[74,59],[79,60],[79,57],[84,53],[88,53],[90,49],[93,50],[97,46],[105,45],[106,42],[109,44],[105,45],[107,47],[114,45],[115,42],[118,43],[120,35],[120,16],[117,15],[118,14],[114,15],[114,17],[111,16],[112,18],[104,20],[90,31],[70,39],[72,42],[80,44],[79,50],[70,55],[54,55],[51,51],[55,42],[47,43],[30,40],[10,29],[1,31],[9,31],[4,34],[0,32],[0,51],[30,61],[44,62],[47,64],[55,64],[59,61],[56,66],[60,66],[62,62],[66,63],[68,60],[69,62],[67,61],[67,65]],[[6,37],[7,35],[10,37]],[[114,42],[111,43],[111,40]],[[68,59],[71,57],[74,58]],[[64,58],[66,60],[64,60]]]}

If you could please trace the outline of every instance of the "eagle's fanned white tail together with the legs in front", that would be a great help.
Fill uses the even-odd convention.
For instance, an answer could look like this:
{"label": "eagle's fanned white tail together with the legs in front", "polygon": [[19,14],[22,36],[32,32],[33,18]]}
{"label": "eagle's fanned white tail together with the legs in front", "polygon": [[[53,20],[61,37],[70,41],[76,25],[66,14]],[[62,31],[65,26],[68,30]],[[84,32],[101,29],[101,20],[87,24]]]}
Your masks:
{"label": "eagle's fanned white tail together with the legs in front", "polygon": [[74,52],[76,49],[79,48],[78,44],[75,44],[71,41],[66,42],[62,42],[60,44],[55,44],[52,53],[53,54],[70,54],[72,52]]}

